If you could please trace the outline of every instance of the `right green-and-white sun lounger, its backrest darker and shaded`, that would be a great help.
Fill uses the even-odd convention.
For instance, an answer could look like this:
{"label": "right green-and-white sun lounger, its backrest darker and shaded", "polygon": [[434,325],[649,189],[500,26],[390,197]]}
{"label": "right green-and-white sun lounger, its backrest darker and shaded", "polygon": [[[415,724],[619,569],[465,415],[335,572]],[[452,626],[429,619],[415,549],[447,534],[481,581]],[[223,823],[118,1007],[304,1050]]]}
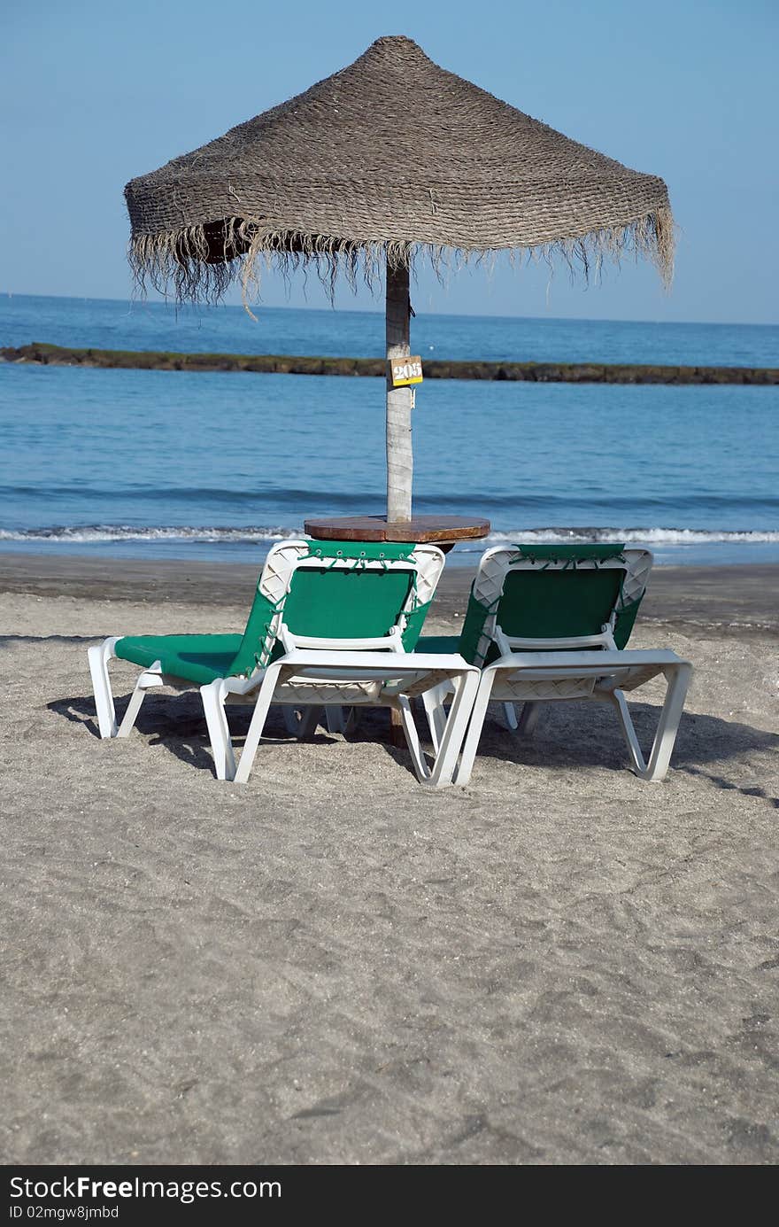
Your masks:
{"label": "right green-and-white sun lounger, its backrest darker and shaded", "polygon": [[[543,702],[583,698],[610,703],[620,719],[633,771],[665,777],[692,665],[675,653],[626,649],[651,569],[647,550],[621,545],[512,545],[487,550],[471,588],[459,638],[420,639],[421,652],[459,652],[482,670],[454,780],[470,779],[487,704],[530,735]],[[666,698],[645,760],[624,693],[658,675]],[[423,696],[433,745],[444,728],[443,685]],[[519,721],[515,703],[523,704]]]}

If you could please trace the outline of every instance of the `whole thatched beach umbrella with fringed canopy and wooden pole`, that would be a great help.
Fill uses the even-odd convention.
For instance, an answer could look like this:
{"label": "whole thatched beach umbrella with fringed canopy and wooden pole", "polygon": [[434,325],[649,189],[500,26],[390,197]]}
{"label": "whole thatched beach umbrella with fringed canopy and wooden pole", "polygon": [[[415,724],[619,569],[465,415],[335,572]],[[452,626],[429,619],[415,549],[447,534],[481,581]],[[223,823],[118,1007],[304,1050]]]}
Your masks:
{"label": "whole thatched beach umbrella with fringed canopy and wooden pole", "polygon": [[[547,128],[433,64],[409,38],[379,38],[305,93],[174,158],[125,189],[130,258],[179,301],[244,302],[263,259],[310,260],[386,282],[386,352],[407,356],[409,270],[502,250],[586,269],[624,250],[671,277],[662,179]],[[388,519],[411,517],[411,391],[386,393]]]}

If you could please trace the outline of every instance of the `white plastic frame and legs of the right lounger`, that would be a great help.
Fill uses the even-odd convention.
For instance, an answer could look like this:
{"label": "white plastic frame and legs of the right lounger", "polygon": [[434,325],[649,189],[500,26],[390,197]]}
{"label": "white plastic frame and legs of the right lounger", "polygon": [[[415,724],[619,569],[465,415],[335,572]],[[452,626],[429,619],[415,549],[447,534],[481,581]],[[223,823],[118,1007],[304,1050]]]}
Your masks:
{"label": "white plastic frame and legs of the right lounger", "polygon": [[[550,553],[553,553],[553,546],[550,547]],[[597,566],[600,569],[624,571],[622,600],[624,605],[631,605],[647,587],[653,557],[648,550],[623,550],[622,560],[617,557],[600,560]],[[545,568],[564,569],[568,564],[566,561],[546,562]],[[510,728],[516,729],[520,735],[530,736],[539,719],[541,702],[573,698],[611,703],[620,718],[635,774],[647,780],[664,779],[678,731],[692,665],[673,652],[620,650],[613,639],[616,610],[601,627],[600,634],[551,639],[504,634],[498,622],[498,602],[505,577],[509,571],[531,568],[537,568],[537,562],[523,557],[515,547],[498,546],[487,550],[481,558],[474,583],[474,595],[482,605],[496,606],[496,612],[485,622],[476,658],[483,661],[492,643],[502,655],[482,671],[462,747],[462,758],[454,774],[454,782],[467,784],[471,777],[487,704],[491,701],[504,704]],[[575,648],[589,650],[573,652]],[[653,748],[649,758],[644,760],[624,692],[635,690],[660,674],[667,682],[666,698]],[[438,744],[444,728],[445,693],[447,683],[443,683],[437,691],[423,696],[433,746]],[[515,703],[524,704],[519,721],[515,717]]]}

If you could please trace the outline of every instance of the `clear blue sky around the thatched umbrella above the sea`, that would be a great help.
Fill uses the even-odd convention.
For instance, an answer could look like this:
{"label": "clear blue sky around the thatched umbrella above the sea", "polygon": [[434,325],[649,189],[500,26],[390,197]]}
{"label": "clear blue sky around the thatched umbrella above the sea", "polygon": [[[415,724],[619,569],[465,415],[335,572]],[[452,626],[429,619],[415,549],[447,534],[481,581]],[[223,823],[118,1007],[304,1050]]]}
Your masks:
{"label": "clear blue sky around the thatched umbrella above the sea", "polygon": [[[649,266],[423,275],[422,310],[779,319],[775,0],[9,0],[0,49],[0,291],[124,298],[128,179],[407,34],[444,67],[669,184],[666,297]],[[325,307],[266,279],[264,301]],[[339,304],[379,308],[341,292]]]}

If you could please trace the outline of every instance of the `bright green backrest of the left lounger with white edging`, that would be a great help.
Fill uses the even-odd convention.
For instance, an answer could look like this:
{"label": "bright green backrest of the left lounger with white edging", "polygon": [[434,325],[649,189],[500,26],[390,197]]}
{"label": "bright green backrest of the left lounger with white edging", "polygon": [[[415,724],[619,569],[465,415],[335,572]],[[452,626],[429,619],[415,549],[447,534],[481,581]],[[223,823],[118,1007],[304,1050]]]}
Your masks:
{"label": "bright green backrest of the left lounger with white edging", "polygon": [[282,541],[270,551],[231,674],[249,676],[281,655],[281,625],[293,636],[372,639],[420,637],[444,564],[437,546]]}

